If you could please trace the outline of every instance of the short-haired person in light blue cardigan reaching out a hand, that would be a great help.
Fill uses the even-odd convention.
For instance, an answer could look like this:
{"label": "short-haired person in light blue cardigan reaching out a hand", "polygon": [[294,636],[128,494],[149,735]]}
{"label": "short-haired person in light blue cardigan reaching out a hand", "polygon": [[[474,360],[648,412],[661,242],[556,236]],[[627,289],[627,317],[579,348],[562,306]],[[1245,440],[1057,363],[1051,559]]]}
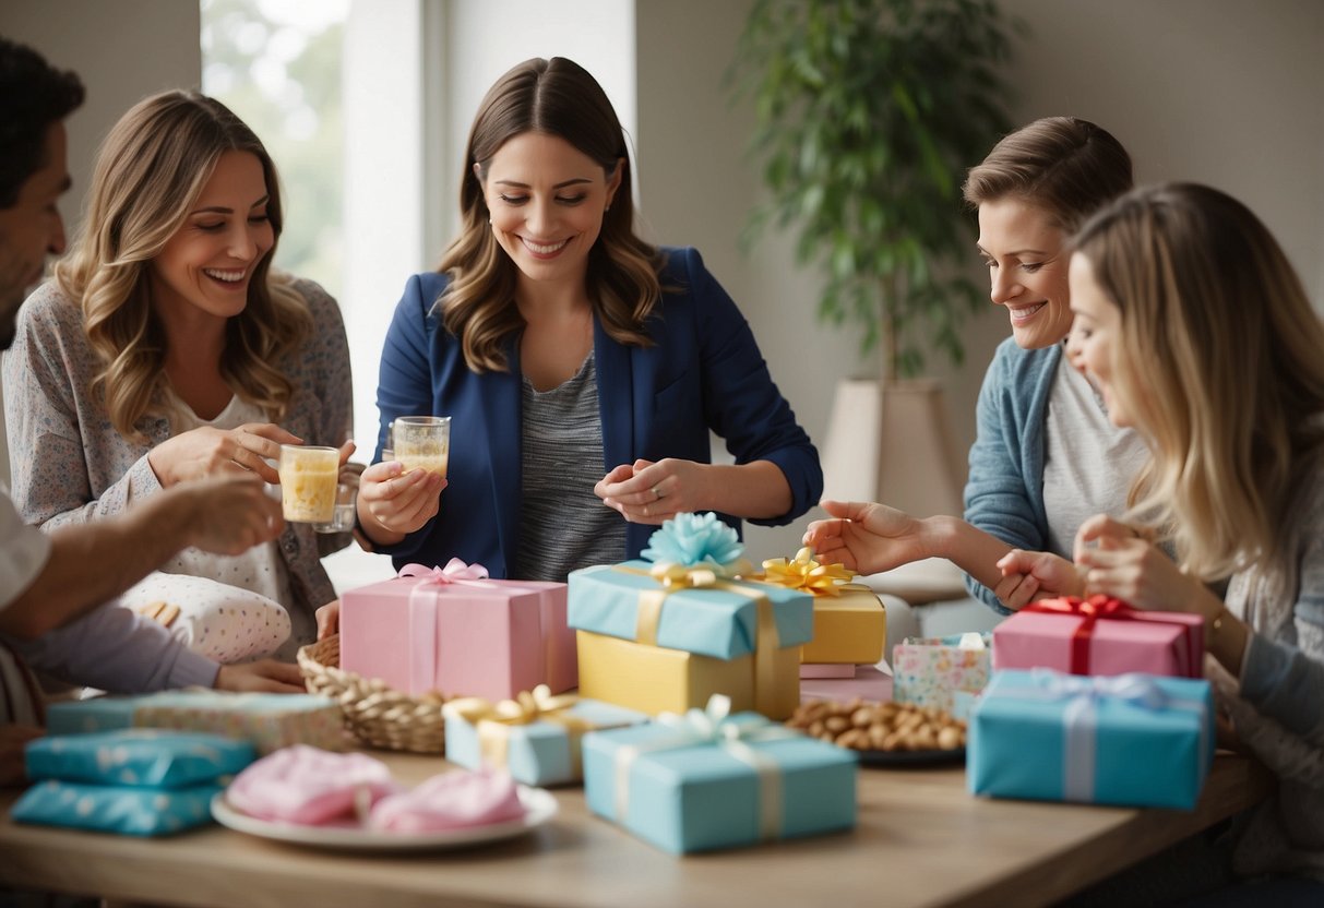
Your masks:
{"label": "short-haired person in light blue cardigan reaching out a hand", "polygon": [[1144,446],[1117,429],[1095,389],[1070,367],[1067,237],[1132,185],[1131,158],[1094,123],[1050,116],[1012,132],[970,169],[990,298],[1012,338],[980,390],[964,519],[912,518],[886,504],[824,502],[833,515],[805,533],[829,561],[861,573],[944,557],[970,593],[1000,612],[1050,594],[1034,577],[1002,576],[1012,548],[1070,555],[1088,516],[1120,514]]}

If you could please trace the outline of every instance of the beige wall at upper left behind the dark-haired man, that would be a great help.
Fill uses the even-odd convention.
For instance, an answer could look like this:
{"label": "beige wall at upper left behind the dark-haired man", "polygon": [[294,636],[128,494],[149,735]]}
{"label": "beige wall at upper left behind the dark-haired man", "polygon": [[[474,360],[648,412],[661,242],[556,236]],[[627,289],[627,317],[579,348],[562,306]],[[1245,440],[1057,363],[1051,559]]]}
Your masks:
{"label": "beige wall at upper left behind the dark-haired man", "polygon": [[[83,106],[66,122],[74,187],[60,210],[71,234],[91,183],[93,155],[115,120],[144,95],[201,82],[199,7],[179,0],[4,0],[0,34],[34,48],[53,66],[77,71],[87,89]],[[3,422],[0,474],[8,483]]]}

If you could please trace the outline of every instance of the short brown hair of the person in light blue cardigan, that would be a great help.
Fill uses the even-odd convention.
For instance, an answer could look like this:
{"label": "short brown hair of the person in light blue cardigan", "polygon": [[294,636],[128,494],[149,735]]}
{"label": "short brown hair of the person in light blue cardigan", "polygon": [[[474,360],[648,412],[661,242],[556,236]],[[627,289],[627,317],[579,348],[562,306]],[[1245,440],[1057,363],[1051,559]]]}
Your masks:
{"label": "short brown hair of the person in light blue cardigan", "polygon": [[1076,116],[1045,116],[1002,136],[969,169],[961,195],[972,208],[1019,199],[1070,234],[1132,185],[1131,155],[1111,132]]}

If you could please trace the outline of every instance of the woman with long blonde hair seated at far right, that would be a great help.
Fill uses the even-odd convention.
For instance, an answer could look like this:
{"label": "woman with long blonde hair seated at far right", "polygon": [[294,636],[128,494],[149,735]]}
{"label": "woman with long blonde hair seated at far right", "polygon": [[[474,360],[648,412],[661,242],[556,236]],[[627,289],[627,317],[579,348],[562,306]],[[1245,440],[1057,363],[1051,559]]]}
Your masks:
{"label": "woman with long blonde hair seated at far right", "polygon": [[1074,565],[1018,551],[1002,568],[1205,618],[1219,705],[1279,782],[1233,852],[1237,874],[1279,876],[1218,904],[1324,904],[1324,327],[1217,189],[1139,189],[1074,249],[1072,363],[1151,458],[1127,518],[1080,528]]}

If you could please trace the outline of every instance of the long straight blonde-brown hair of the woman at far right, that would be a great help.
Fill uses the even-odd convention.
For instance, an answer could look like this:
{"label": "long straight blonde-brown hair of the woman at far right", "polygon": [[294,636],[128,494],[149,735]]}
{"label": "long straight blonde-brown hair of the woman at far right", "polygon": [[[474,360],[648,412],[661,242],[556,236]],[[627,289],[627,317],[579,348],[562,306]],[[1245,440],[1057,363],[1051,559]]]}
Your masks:
{"label": "long straight blonde-brown hair of the woman at far right", "polygon": [[1136,189],[1072,240],[1121,310],[1113,385],[1149,443],[1132,518],[1204,580],[1267,567],[1324,450],[1324,326],[1272,234],[1218,189]]}

